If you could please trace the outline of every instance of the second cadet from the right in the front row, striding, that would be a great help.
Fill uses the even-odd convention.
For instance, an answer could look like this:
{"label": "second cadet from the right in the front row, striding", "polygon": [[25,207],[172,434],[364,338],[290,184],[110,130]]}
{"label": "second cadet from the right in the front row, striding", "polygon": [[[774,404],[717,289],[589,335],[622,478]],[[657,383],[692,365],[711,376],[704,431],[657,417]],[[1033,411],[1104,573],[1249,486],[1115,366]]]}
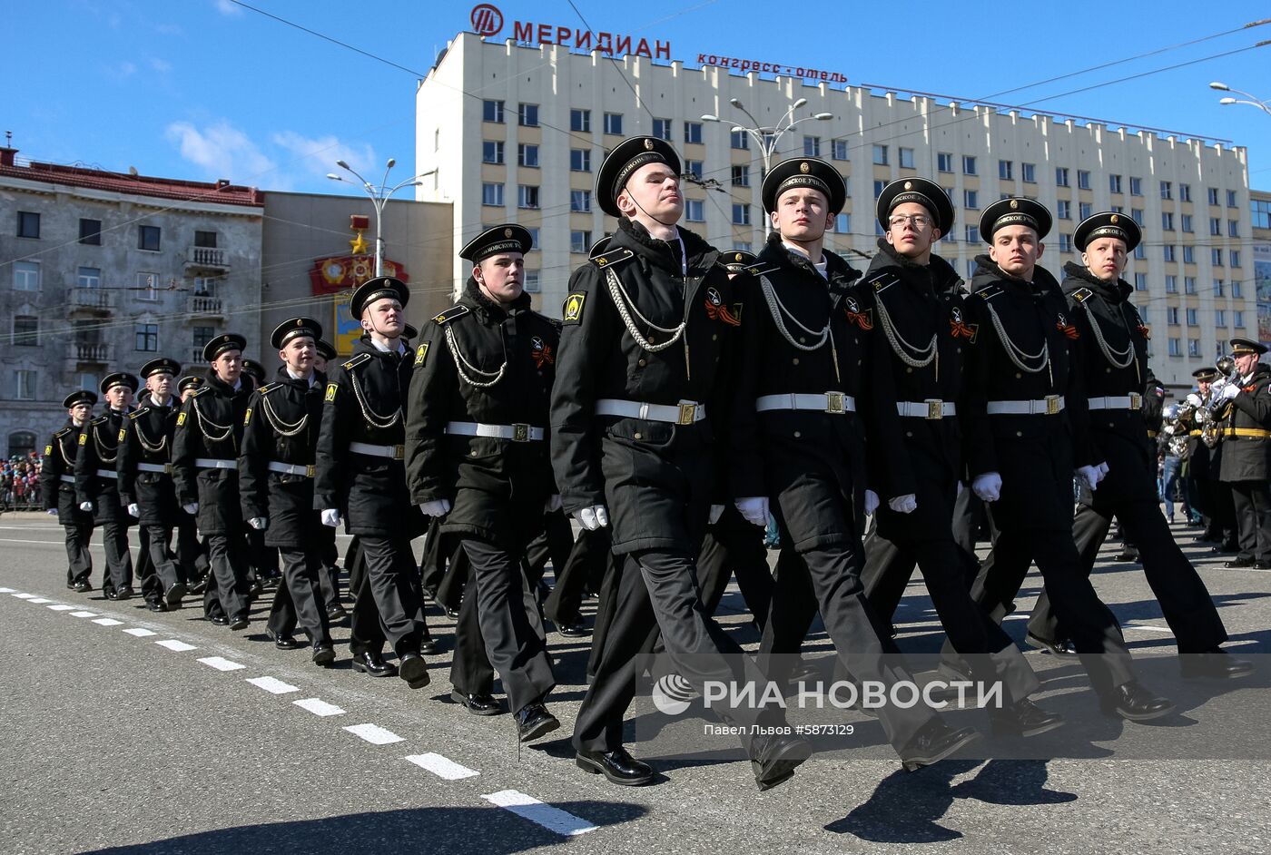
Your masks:
{"label": "second cadet from the right in the front row, striding", "polygon": [[958,417],[971,489],[990,503],[999,534],[976,593],[981,607],[1000,614],[1036,562],[1103,710],[1155,719],[1174,705],[1136,680],[1116,617],[1073,542],[1074,473],[1097,488],[1102,469],[1089,442],[1082,333],[1059,283],[1037,266],[1050,225],[1050,212],[1022,197],[994,202],[980,217],[989,254],[976,258],[966,301],[975,334]]}

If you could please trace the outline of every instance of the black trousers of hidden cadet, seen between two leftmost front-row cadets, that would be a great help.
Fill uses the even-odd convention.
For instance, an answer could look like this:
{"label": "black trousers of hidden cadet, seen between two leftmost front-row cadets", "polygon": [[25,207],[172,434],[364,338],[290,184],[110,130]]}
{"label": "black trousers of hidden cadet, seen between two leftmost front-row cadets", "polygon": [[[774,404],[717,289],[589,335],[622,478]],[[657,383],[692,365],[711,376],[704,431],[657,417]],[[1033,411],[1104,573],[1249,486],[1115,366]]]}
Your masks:
{"label": "black trousers of hidden cadet, seen between two leftmost front-row cadets", "polygon": [[737,587],[755,626],[763,631],[773,602],[773,572],[768,568],[764,528],[746,522],[730,504],[716,523],[707,528],[702,553],[698,555],[698,582],[708,615],[713,615],[719,607],[728,579],[733,576],[737,577]]}

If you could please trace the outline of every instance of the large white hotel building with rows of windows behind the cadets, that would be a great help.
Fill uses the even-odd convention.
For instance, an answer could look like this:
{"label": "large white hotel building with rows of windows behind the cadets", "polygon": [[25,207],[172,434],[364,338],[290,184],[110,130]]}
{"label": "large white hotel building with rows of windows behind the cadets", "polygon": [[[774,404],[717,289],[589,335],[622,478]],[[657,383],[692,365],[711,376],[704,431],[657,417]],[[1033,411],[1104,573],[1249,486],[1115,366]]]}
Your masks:
{"label": "large white hotel building with rows of windows behind the cadets", "polygon": [[963,276],[986,250],[980,211],[1002,196],[1037,198],[1055,215],[1042,263],[1056,274],[1079,260],[1071,234],[1083,217],[1134,216],[1144,241],[1126,279],[1152,328],[1152,367],[1169,386],[1190,386],[1228,338],[1258,334],[1246,150],[1164,131],[460,33],[416,94],[416,168],[436,170],[417,198],[452,203],[456,246],[503,221],[536,230],[529,287],[558,316],[571,271],[615,227],[592,192],[624,136],[661,136],[680,151],[697,179],[681,225],[721,249],[763,246],[763,158],[732,132],[751,125],[732,99],[761,125],[778,125],[798,99],[807,103],[796,118],[831,114],[784,133],[774,163],[820,155],[839,166],[848,203],[827,245],[862,269],[860,253],[877,252],[878,189],[920,175],[953,199],[957,224],[938,252]]}

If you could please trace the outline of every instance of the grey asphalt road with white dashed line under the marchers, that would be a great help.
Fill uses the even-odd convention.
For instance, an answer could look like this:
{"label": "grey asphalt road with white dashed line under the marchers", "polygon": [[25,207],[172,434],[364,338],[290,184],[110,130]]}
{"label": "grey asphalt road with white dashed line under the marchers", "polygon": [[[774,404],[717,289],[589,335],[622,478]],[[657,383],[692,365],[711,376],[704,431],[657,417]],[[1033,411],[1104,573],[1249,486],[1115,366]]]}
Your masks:
{"label": "grey asphalt road with white dashed line under the marchers", "polygon": [[[1191,530],[1174,532],[1220,605],[1230,649],[1271,652],[1271,573],[1224,570]],[[1111,562],[1113,551],[1096,587],[1136,654],[1168,652],[1143,573]],[[749,764],[670,760],[656,785],[616,788],[576,769],[568,747],[587,639],[549,636],[559,681],[549,705],[563,728],[517,750],[510,717],[450,703],[452,621],[436,607],[428,621],[444,653],[430,658],[432,685],[411,691],[353,673],[347,629],[336,635],[343,661],[319,670],[306,649],[263,640],[267,601],[231,634],[189,601],[156,615],[140,598],[70,592],[65,560],[53,520],[0,517],[0,852],[1271,850],[1271,762],[1238,752],[1134,760],[1115,739],[1083,758],[955,758],[915,774],[894,758],[813,757],[763,794]],[[1024,611],[1038,587],[1033,573]],[[907,593],[901,644],[934,649],[925,591],[915,582]],[[730,592],[722,620],[752,643],[740,609]],[[1023,621],[1008,628],[1021,636]],[[1052,657],[1028,657],[1043,703],[1071,691]],[[1266,691],[1265,673],[1252,682],[1223,697]],[[1230,708],[1220,701],[1191,704],[1171,724],[1221,728]],[[1131,730],[1148,725],[1125,727],[1150,739]]]}

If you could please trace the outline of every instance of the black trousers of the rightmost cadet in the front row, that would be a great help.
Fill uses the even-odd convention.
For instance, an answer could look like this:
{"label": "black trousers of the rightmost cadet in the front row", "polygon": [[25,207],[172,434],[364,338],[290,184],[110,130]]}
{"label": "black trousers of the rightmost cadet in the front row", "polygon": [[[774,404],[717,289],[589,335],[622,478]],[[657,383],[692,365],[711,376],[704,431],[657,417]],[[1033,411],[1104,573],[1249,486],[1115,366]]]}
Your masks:
{"label": "black trousers of the rightmost cadet in the front row", "polygon": [[[1271,501],[1268,501],[1271,504]],[[1160,508],[1150,501],[1107,502],[1098,490],[1093,504],[1078,504],[1073,517],[1073,540],[1082,560],[1082,572],[1089,577],[1098,559],[1116,515],[1127,544],[1139,550],[1143,573],[1160,603],[1160,611],[1173,630],[1179,653],[1202,653],[1227,640],[1223,620],[1214,607],[1214,598],[1196,568],[1178,549]],[[1271,555],[1271,553],[1268,553]],[[1066,639],[1064,621],[1051,607],[1050,581],[1033,606],[1028,631],[1036,638],[1054,642]]]}

